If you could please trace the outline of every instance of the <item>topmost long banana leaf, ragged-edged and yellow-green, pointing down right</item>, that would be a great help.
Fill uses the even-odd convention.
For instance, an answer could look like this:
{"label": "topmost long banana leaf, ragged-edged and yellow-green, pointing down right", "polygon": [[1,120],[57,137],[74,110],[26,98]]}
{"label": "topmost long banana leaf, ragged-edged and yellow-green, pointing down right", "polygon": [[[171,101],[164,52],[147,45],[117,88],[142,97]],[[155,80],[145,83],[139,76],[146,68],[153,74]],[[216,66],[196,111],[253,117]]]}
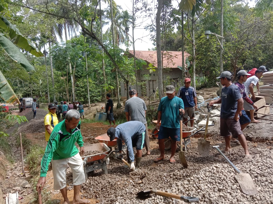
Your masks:
{"label": "topmost long banana leaf, ragged-edged and yellow-green, pointing down right", "polygon": [[5,17],[0,16],[0,27],[9,30],[11,39],[15,38],[14,44],[28,51],[36,57],[42,57],[43,53],[39,51],[27,38],[25,38],[20,31],[11,24]]}

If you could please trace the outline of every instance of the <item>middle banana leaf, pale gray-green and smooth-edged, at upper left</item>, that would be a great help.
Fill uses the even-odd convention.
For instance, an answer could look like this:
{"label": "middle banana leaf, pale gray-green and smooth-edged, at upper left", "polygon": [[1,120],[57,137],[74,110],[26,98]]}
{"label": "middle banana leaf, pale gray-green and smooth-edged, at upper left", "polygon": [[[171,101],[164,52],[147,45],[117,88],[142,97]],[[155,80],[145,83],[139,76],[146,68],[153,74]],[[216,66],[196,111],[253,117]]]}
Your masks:
{"label": "middle banana leaf, pale gray-green and smooth-edged, at upper left", "polygon": [[35,70],[19,48],[17,48],[8,38],[6,38],[3,33],[0,33],[0,45],[13,60],[20,64],[25,70]]}

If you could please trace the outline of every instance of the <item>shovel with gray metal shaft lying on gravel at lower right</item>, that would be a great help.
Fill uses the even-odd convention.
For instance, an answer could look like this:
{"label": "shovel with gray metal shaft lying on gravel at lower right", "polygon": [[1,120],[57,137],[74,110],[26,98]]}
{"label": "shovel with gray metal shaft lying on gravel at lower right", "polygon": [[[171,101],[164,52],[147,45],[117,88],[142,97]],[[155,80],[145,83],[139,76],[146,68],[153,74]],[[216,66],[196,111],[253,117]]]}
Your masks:
{"label": "shovel with gray metal shaft lying on gravel at lower right", "polygon": [[251,196],[256,195],[258,191],[250,175],[248,173],[242,173],[241,171],[239,171],[239,169],[237,169],[236,166],[234,166],[234,164],[225,156],[224,153],[222,153],[221,150],[219,150],[218,147],[219,146],[213,146],[213,148],[215,148],[220,154],[222,154],[225,160],[229,162],[233,169],[235,169],[235,171],[238,172],[238,174],[235,175],[235,178],[238,181],[242,191],[247,195]]}

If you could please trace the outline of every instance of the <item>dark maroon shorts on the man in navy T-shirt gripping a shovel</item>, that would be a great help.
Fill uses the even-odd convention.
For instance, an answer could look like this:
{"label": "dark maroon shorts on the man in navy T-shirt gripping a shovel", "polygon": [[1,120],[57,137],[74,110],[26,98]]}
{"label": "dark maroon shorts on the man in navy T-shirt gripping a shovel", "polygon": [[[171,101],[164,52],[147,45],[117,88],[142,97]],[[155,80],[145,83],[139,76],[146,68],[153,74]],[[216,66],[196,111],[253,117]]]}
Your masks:
{"label": "dark maroon shorts on the man in navy T-shirt gripping a shovel", "polygon": [[220,118],[220,135],[222,137],[228,137],[232,135],[233,137],[238,137],[238,135],[243,134],[241,131],[241,126],[239,120],[236,121],[233,118],[223,119]]}

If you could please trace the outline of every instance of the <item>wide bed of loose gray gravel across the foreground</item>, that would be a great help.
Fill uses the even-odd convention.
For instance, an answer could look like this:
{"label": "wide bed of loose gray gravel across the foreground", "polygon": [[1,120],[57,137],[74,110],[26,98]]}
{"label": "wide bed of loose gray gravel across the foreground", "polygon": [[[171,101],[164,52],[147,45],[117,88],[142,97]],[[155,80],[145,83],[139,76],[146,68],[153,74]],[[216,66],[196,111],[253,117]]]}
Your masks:
{"label": "wide bed of loose gray gravel across the foreground", "polygon": [[[140,173],[130,173],[123,169],[120,160],[110,160],[108,174],[96,170],[89,175],[82,185],[85,198],[97,199],[99,203],[184,203],[181,200],[153,194],[146,200],[136,198],[139,191],[150,189],[167,191],[183,196],[200,199],[199,203],[273,203],[272,159],[273,150],[266,147],[249,147],[253,158],[244,159],[244,150],[234,149],[227,157],[243,173],[249,173],[258,193],[249,196],[241,191],[234,178],[237,172],[221,154],[211,150],[210,155],[201,157],[197,148],[186,152],[188,168],[183,168],[178,155],[176,163],[168,163],[170,152],[165,160],[154,163],[159,150],[152,150],[152,155],[142,157]],[[125,158],[126,159],[126,158]],[[72,173],[67,177],[67,184],[72,184]]]}

